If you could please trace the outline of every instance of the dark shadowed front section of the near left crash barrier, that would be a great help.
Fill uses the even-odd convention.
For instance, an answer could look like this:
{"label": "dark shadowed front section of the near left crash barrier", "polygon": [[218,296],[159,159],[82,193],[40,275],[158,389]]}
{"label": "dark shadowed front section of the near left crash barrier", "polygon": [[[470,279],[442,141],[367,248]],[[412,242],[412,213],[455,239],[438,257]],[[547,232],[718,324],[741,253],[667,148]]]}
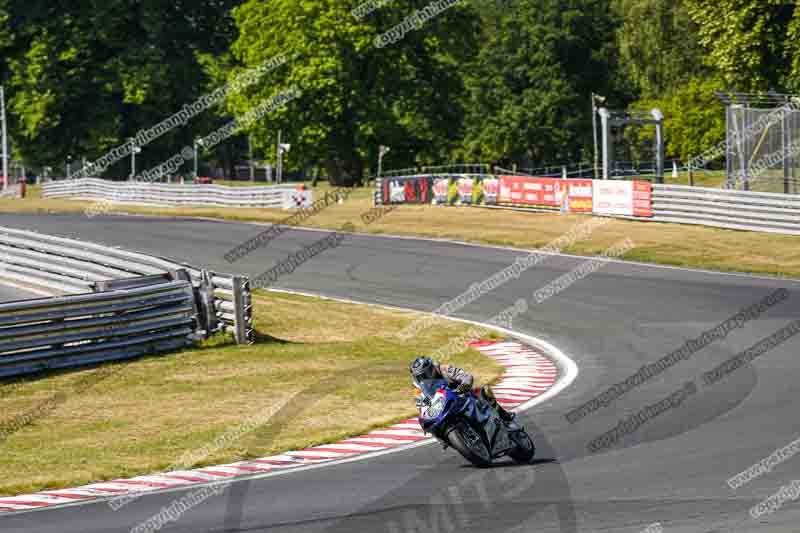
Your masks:
{"label": "dark shadowed front section of the near left crash barrier", "polygon": [[187,281],[0,304],[0,378],[182,348],[196,330]]}

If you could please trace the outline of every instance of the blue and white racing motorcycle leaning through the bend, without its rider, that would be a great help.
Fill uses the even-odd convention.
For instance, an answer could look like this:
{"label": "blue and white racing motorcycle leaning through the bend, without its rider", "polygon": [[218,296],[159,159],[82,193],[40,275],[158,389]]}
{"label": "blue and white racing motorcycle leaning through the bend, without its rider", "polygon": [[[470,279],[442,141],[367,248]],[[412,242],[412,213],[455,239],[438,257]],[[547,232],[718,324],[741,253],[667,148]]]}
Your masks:
{"label": "blue and white racing motorcycle leaning through the bend, without its rider", "polygon": [[515,421],[503,421],[496,409],[470,393],[459,394],[447,380],[425,380],[415,384],[419,423],[425,433],[452,446],[478,467],[507,455],[517,463],[530,463],[536,447],[525,429]]}

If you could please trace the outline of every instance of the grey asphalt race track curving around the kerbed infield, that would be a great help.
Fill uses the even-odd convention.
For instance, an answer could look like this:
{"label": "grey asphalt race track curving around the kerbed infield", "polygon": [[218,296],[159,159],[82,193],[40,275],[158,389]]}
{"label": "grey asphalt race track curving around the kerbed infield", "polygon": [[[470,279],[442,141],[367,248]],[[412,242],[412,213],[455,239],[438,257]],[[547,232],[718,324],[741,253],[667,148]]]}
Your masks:
{"label": "grey asphalt race track curving around the kerbed infield", "polygon": [[[391,216],[391,215],[388,215]],[[0,226],[36,229],[157,253],[253,277],[323,233],[290,231],[234,265],[223,254],[256,235],[253,225],[141,217],[9,216]],[[353,236],[276,286],[364,302],[432,310],[513,263],[521,252],[413,239]],[[585,259],[554,256],[470,304],[457,316],[487,320]],[[565,414],[643,364],[680,348],[777,288],[789,298],[607,407],[570,423]],[[665,532],[798,531],[787,501],[748,512],[800,479],[800,458],[736,490],[727,480],[800,438],[800,339],[791,338],[707,385],[703,373],[800,318],[800,283],[611,263],[535,305],[514,329],[561,348],[576,381],[522,420],[541,461],[479,470],[431,445],[368,461],[240,482],[169,523],[169,532]],[[404,371],[404,369],[398,369]],[[697,392],[610,449],[588,443],[626,417],[694,381]],[[279,385],[279,384],[276,384]],[[103,502],[0,518],[3,532],[129,532],[180,493],[143,496],[120,511]],[[141,531],[141,529],[139,529]]]}

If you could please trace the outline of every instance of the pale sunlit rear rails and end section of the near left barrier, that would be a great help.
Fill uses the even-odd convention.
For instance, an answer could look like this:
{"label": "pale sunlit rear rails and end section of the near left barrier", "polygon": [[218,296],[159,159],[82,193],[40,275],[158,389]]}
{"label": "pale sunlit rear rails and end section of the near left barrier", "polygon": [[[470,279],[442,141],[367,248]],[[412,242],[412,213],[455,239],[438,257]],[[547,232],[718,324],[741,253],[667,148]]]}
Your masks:
{"label": "pale sunlit rear rails and end section of the near left barrier", "polygon": [[12,228],[0,230],[0,281],[50,295],[86,293],[102,290],[108,280],[178,271],[185,271],[195,291],[201,330],[206,334],[225,330],[240,344],[253,341],[250,285],[245,277],[76,239]]}

